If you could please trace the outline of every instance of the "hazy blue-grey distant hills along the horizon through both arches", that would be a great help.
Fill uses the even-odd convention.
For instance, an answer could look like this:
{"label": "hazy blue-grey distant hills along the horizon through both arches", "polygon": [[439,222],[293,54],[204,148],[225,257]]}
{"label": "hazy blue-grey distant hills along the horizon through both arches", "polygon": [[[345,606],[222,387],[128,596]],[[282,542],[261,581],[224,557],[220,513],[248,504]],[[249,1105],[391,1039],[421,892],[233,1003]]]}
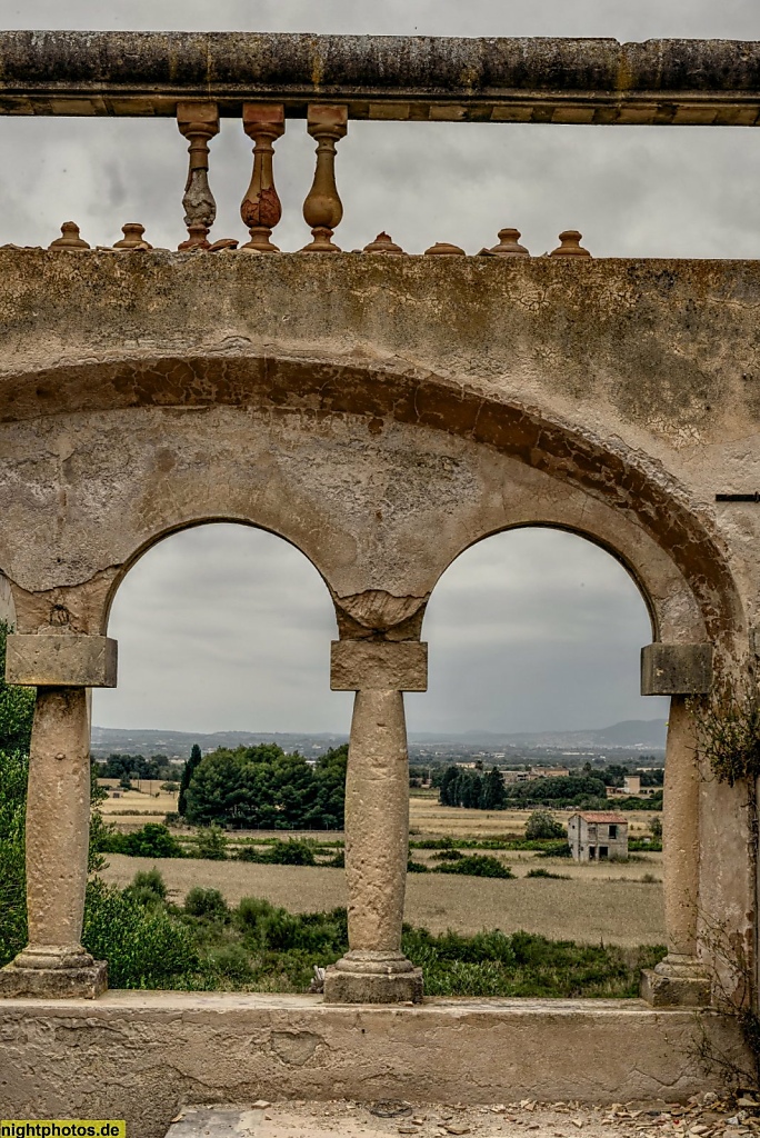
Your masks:
{"label": "hazy blue-grey distant hills along the horizon through both arches", "polygon": [[[287,732],[217,731],[210,734],[188,731],[141,731],[138,728],[93,727],[93,754],[164,754],[187,758],[190,748],[198,743],[201,751],[217,747],[255,747],[257,743],[276,743],[284,751],[300,751],[307,758],[323,754],[331,747],[340,747],[348,735],[329,733],[297,734]],[[481,747],[489,750],[510,747],[547,748],[552,750],[627,750],[663,751],[666,743],[664,719],[626,719],[611,727],[589,731],[544,731],[499,734],[470,731],[462,734],[433,734],[411,732],[410,743],[416,745]]]}

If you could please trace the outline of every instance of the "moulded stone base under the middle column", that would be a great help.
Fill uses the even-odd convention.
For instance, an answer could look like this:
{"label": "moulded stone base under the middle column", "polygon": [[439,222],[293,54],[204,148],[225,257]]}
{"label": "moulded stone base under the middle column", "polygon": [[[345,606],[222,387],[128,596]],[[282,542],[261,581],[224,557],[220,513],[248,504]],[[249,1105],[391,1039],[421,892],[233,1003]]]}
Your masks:
{"label": "moulded stone base under the middle column", "polygon": [[419,1004],[422,968],[403,953],[349,951],[327,970],[325,1004]]}

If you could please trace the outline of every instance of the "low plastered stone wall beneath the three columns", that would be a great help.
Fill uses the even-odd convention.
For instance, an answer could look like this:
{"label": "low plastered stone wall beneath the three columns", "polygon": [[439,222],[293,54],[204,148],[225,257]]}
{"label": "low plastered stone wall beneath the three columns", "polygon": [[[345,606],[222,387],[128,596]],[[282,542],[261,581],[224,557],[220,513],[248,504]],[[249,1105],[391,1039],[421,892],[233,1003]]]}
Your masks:
{"label": "low plastered stone wall beneath the three columns", "polygon": [[684,1100],[711,1086],[702,1026],[733,1022],[639,1000],[428,999],[116,992],[3,1000],[0,1116],[125,1118],[158,1138],[181,1106],[257,1098]]}

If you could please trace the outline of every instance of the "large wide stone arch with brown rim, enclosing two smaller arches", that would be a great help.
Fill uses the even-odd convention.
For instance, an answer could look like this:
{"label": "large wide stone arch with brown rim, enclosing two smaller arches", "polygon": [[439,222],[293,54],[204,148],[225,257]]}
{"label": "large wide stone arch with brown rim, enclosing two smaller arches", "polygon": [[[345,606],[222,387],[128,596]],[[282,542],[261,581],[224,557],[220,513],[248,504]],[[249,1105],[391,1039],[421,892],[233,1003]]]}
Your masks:
{"label": "large wide stone arch with brown rim, enclosing two smaller arches", "polygon": [[[515,525],[561,526],[608,549],[662,638],[728,646],[743,628],[724,541],[661,462],[551,409],[403,361],[233,345],[41,366],[3,378],[0,430],[10,460],[0,568],[28,630],[61,619],[101,630],[125,567],[210,520],[296,545],[346,635],[419,634],[446,566]],[[30,454],[42,456],[36,477]],[[66,514],[56,495],[75,509]],[[9,529],[24,525],[19,572]]]}

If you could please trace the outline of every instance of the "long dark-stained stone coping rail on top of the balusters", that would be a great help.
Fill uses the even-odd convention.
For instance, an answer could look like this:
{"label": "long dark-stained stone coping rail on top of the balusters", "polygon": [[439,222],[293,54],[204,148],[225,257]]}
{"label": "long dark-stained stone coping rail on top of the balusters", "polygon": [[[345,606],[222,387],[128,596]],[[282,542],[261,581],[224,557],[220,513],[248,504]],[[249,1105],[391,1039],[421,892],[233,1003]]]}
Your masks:
{"label": "long dark-stained stone coping rail on top of the balusters", "polygon": [[340,102],[352,118],[753,125],[760,43],[261,32],[0,33],[0,114]]}

